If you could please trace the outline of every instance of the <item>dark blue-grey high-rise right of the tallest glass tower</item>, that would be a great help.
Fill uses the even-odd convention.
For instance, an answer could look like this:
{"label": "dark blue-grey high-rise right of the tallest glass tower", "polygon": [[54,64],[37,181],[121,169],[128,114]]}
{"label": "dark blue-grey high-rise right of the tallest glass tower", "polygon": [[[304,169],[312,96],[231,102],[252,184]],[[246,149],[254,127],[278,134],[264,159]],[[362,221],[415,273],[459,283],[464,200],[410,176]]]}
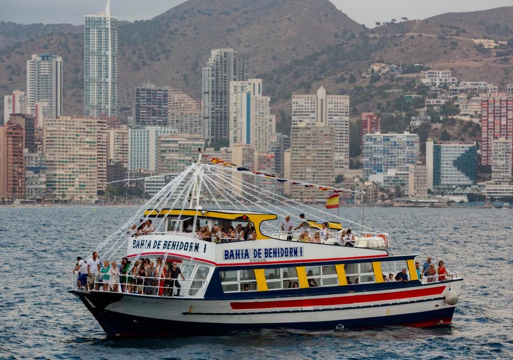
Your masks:
{"label": "dark blue-grey high-rise right of the tallest glass tower", "polygon": [[146,83],[134,89],[134,125],[166,126],[169,111],[169,87]]}

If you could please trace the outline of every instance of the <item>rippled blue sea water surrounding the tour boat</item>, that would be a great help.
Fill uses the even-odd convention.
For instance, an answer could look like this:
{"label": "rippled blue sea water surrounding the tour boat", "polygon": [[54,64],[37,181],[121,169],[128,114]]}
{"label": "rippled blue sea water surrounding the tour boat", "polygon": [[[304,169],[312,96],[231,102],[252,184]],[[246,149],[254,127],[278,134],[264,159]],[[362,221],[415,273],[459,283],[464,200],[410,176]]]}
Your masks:
{"label": "rippled blue sea water surrounding the tour boat", "polygon": [[[85,257],[129,207],[0,208],[0,358],[513,358],[513,210],[366,208],[395,254],[464,272],[453,324],[367,331],[255,331],[189,338],[107,338],[67,293]],[[360,222],[362,210],[341,214]]]}

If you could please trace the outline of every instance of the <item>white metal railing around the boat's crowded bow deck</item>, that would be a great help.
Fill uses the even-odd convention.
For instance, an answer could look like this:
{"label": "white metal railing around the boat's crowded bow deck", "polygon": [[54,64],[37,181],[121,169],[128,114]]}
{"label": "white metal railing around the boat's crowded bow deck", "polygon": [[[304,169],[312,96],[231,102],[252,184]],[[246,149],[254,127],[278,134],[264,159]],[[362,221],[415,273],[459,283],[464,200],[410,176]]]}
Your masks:
{"label": "white metal railing around the boat's crowded bow deck", "polygon": [[[89,290],[100,292],[118,292],[137,294],[141,296],[165,296],[165,297],[202,297],[203,290],[206,289],[208,282],[202,279],[169,279],[156,277],[143,277],[138,275],[112,275],[108,273],[96,273],[93,282],[78,287],[78,272],[72,273],[73,290]],[[109,279],[103,279],[103,276],[109,276]],[[123,281],[121,281],[123,280]]]}

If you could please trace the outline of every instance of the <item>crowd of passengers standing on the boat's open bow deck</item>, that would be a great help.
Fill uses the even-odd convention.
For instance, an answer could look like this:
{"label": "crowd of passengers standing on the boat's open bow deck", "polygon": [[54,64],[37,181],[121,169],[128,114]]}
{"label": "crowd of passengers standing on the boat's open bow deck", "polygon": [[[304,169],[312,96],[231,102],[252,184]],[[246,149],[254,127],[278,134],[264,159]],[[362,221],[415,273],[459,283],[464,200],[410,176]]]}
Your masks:
{"label": "crowd of passengers standing on the boat's open bow deck", "polygon": [[[101,261],[98,253],[83,261],[77,257],[77,264],[73,272],[77,274],[77,288],[79,290],[100,290],[122,292],[130,294],[145,294],[158,296],[182,296],[179,276],[186,280],[177,262],[171,268],[162,264],[157,257],[156,263],[150,259],[139,259],[131,264],[128,258],[122,258],[118,265],[116,261],[107,259]],[[101,266],[103,265],[103,266]],[[160,277],[159,277],[160,274]],[[201,286],[201,281],[191,285]],[[198,287],[199,289],[199,287]]]}

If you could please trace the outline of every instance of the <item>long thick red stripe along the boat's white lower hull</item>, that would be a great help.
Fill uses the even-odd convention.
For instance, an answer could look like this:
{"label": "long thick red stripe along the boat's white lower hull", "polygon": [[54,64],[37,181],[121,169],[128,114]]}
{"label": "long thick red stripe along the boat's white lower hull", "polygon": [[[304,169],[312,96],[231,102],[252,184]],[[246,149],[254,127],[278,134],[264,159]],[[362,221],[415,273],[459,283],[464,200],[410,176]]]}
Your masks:
{"label": "long thick red stripe along the boat's white lower hull", "polygon": [[233,310],[257,310],[273,308],[300,308],[314,306],[344,305],[373,301],[402,300],[420,296],[440,295],[445,286],[430,287],[428,289],[405,290],[391,293],[380,293],[370,295],[349,295],[339,297],[325,297],[315,299],[281,300],[281,301],[258,301],[258,302],[231,302]]}

